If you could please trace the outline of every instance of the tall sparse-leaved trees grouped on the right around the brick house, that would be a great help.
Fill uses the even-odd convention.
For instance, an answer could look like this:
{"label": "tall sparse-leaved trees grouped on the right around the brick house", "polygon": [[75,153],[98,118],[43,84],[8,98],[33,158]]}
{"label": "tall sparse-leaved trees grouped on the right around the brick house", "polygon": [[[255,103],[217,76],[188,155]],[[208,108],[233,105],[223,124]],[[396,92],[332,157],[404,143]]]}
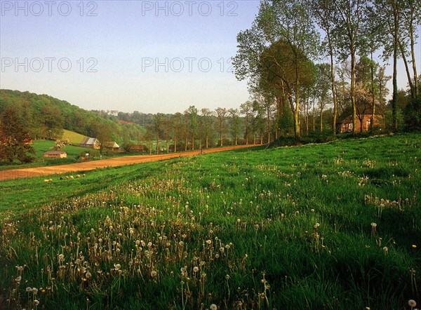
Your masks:
{"label": "tall sparse-leaved trees grouped on the right around the brick house", "polygon": [[[248,80],[253,96],[275,102],[279,114],[284,105],[290,107],[297,139],[302,119],[308,128],[309,101],[314,98],[321,114],[333,105],[332,128],[340,110],[349,108],[356,133],[361,109],[373,118],[377,107],[385,110],[389,78],[373,56],[380,52],[385,62],[393,62],[392,126],[397,129],[398,58],[403,59],[410,93],[412,113],[406,116],[420,114],[414,48],[420,23],[421,2],[416,0],[263,0],[253,25],[237,36],[235,74]],[[329,62],[323,63],[326,58]],[[336,65],[344,62],[338,79]],[[367,106],[369,112],[363,108]],[[420,126],[420,119],[407,123]]]}

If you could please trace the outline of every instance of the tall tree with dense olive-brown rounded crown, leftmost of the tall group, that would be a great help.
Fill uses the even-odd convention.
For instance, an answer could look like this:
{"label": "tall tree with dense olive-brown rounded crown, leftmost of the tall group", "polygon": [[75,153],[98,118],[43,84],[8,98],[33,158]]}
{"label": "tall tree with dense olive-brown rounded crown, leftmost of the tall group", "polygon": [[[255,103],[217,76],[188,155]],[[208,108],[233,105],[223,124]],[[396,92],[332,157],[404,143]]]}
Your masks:
{"label": "tall tree with dense olive-brown rounded crown, leftmost of the tall group", "polygon": [[319,33],[307,1],[263,0],[252,27],[240,32],[237,42],[237,79],[247,78],[254,84],[266,79],[273,88],[283,90],[293,111],[295,138],[299,140],[303,68],[319,51]]}

